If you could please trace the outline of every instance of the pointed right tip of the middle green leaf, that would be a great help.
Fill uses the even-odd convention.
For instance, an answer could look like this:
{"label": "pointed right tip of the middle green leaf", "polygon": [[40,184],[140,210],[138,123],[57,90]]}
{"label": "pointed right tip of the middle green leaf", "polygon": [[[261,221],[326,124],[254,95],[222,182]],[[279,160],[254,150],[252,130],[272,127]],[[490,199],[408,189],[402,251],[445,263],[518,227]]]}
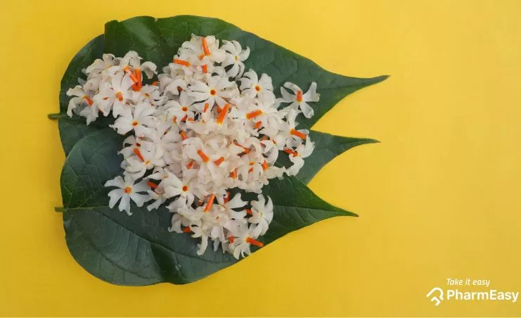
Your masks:
{"label": "pointed right tip of the middle green leaf", "polygon": [[[356,146],[379,142],[375,139],[335,136],[325,132],[315,132],[314,130],[309,132],[309,136],[311,141],[315,143],[315,149],[308,158],[304,159],[304,167],[295,176],[304,184],[309,183],[311,178],[337,155]],[[279,153],[277,163],[279,166],[284,167],[292,165],[288,154],[284,152]]]}

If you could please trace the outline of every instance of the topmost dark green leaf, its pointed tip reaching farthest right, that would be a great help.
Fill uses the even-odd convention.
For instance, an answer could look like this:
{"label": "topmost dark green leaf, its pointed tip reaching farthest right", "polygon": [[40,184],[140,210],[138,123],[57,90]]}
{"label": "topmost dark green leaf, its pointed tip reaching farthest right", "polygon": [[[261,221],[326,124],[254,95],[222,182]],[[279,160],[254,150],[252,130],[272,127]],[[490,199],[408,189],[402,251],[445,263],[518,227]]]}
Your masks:
{"label": "topmost dark green leaf, its pointed tip reaching farthest right", "polygon": [[105,52],[123,56],[128,51],[137,51],[145,61],[153,61],[159,69],[171,61],[183,42],[191,34],[215,35],[217,39],[234,39],[250,47],[246,68],[257,73],[265,72],[273,80],[276,94],[285,82],[293,82],[307,91],[311,82],[318,84],[321,94],[318,103],[311,103],[315,115],[309,119],[300,117],[300,129],[311,127],[328,110],[348,94],[371,84],[382,82],[387,76],[356,78],[338,75],[324,70],[304,56],[284,49],[235,25],[215,18],[195,15],[178,15],[172,18],[136,17],[105,25]]}

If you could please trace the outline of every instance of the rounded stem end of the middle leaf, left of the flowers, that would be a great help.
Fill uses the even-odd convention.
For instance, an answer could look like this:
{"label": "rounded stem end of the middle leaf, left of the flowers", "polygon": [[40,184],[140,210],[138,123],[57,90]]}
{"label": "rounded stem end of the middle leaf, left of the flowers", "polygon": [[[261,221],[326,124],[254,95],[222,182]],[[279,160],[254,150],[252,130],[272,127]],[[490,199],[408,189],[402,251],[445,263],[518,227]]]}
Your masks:
{"label": "rounded stem end of the middle leaf, left of the flowers", "polygon": [[[78,78],[85,79],[86,76],[82,72],[84,68],[91,65],[96,58],[101,58],[103,55],[103,34],[99,35],[87,43],[75,57],[70,61],[65,74],[61,79],[60,85],[60,115],[58,117],[58,129],[60,130],[60,139],[65,155],[69,153],[72,146],[89,132],[94,132],[99,129],[96,125],[86,126],[85,118],[78,117],[75,120],[70,120],[67,113],[67,106],[69,105],[70,97],[67,96],[67,90],[75,87],[78,84]],[[64,117],[65,116],[65,117]],[[51,117],[51,116],[49,116]],[[56,118],[53,118],[56,119]]]}

